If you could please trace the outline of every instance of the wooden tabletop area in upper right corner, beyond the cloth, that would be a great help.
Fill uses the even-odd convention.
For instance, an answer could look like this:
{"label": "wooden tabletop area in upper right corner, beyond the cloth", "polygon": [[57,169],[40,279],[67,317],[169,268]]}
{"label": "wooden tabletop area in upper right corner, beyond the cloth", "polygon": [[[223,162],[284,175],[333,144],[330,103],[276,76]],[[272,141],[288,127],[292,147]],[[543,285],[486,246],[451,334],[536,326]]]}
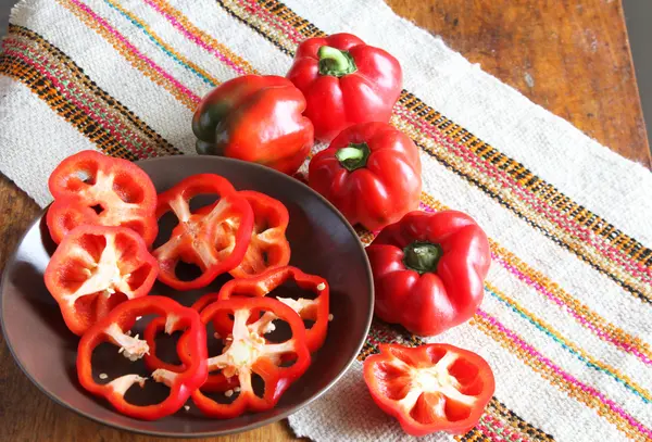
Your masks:
{"label": "wooden tabletop area in upper right corner, beyond the cloth", "polygon": [[388,0],[472,63],[652,166],[619,0]]}

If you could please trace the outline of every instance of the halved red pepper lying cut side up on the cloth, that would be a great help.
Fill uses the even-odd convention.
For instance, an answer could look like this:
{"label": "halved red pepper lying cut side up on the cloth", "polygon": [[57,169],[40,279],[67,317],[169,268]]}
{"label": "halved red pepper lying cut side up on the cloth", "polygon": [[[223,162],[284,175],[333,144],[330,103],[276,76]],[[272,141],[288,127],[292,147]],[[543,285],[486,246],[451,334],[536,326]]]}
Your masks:
{"label": "halved red pepper lying cut side up on the cloth", "polygon": [[449,344],[380,344],[364,362],[364,380],[380,409],[417,437],[467,432],[496,389],[485,359]]}

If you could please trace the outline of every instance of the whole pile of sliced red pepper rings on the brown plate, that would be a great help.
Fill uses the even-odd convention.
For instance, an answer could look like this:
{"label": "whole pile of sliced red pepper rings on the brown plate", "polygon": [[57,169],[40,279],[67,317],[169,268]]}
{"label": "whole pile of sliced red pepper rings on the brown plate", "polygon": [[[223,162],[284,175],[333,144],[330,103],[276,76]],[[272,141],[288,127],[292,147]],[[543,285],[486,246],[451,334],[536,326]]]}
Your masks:
{"label": "whole pile of sliced red pepper rings on the brown plate", "polygon": [[[274,407],[308,369],[311,353],[326,339],[329,288],[324,278],[288,266],[289,215],[283,203],[236,191],[212,174],[190,176],[156,195],[139,167],[95,151],[64,160],[49,186],[54,203],[47,222],[59,247],[45,279],[66,326],[82,337],[77,374],[90,393],[139,419],[174,414],[188,399],[205,416],[231,418]],[[190,201],[200,194],[216,202],[191,210]],[[156,220],[166,214],[178,224],[150,253]],[[198,267],[199,276],[180,279],[181,262]],[[204,288],[225,273],[235,279],[190,307],[148,294],[156,278],[183,292]],[[288,281],[310,296],[274,298]],[[137,321],[152,315],[142,339],[131,336]],[[281,329],[289,329],[289,338],[274,336],[279,321],[287,324]],[[221,346],[215,356],[209,355],[209,327]],[[177,331],[179,363],[166,363],[156,354],[156,337]],[[133,404],[125,399],[127,390],[143,387],[146,377],[109,380],[93,372],[93,351],[104,342],[115,345],[115,357],[142,358],[151,378],[170,388],[166,399]],[[254,391],[254,377],[262,378],[262,391]],[[210,393],[224,397],[215,401]]]}

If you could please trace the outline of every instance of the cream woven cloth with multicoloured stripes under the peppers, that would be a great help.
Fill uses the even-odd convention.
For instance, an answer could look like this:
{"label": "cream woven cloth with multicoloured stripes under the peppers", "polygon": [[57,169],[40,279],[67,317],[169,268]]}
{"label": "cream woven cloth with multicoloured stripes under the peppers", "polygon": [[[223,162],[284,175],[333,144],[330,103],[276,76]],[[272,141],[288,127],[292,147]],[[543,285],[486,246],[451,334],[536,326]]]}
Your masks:
{"label": "cream woven cloth with multicoloured stripes under the peppers", "polygon": [[[464,211],[490,237],[480,310],[430,341],[482,355],[496,394],[467,434],[426,440],[652,440],[651,174],[380,0],[24,0],[0,56],[0,171],[43,205],[48,175],[79,150],[192,154],[205,92],[283,75],[301,40],[337,31],[403,66],[391,123],[422,150],[422,209]],[[290,417],[296,433],[404,439],[361,376],[378,343],[394,341],[423,342],[375,323],[342,380]]]}

